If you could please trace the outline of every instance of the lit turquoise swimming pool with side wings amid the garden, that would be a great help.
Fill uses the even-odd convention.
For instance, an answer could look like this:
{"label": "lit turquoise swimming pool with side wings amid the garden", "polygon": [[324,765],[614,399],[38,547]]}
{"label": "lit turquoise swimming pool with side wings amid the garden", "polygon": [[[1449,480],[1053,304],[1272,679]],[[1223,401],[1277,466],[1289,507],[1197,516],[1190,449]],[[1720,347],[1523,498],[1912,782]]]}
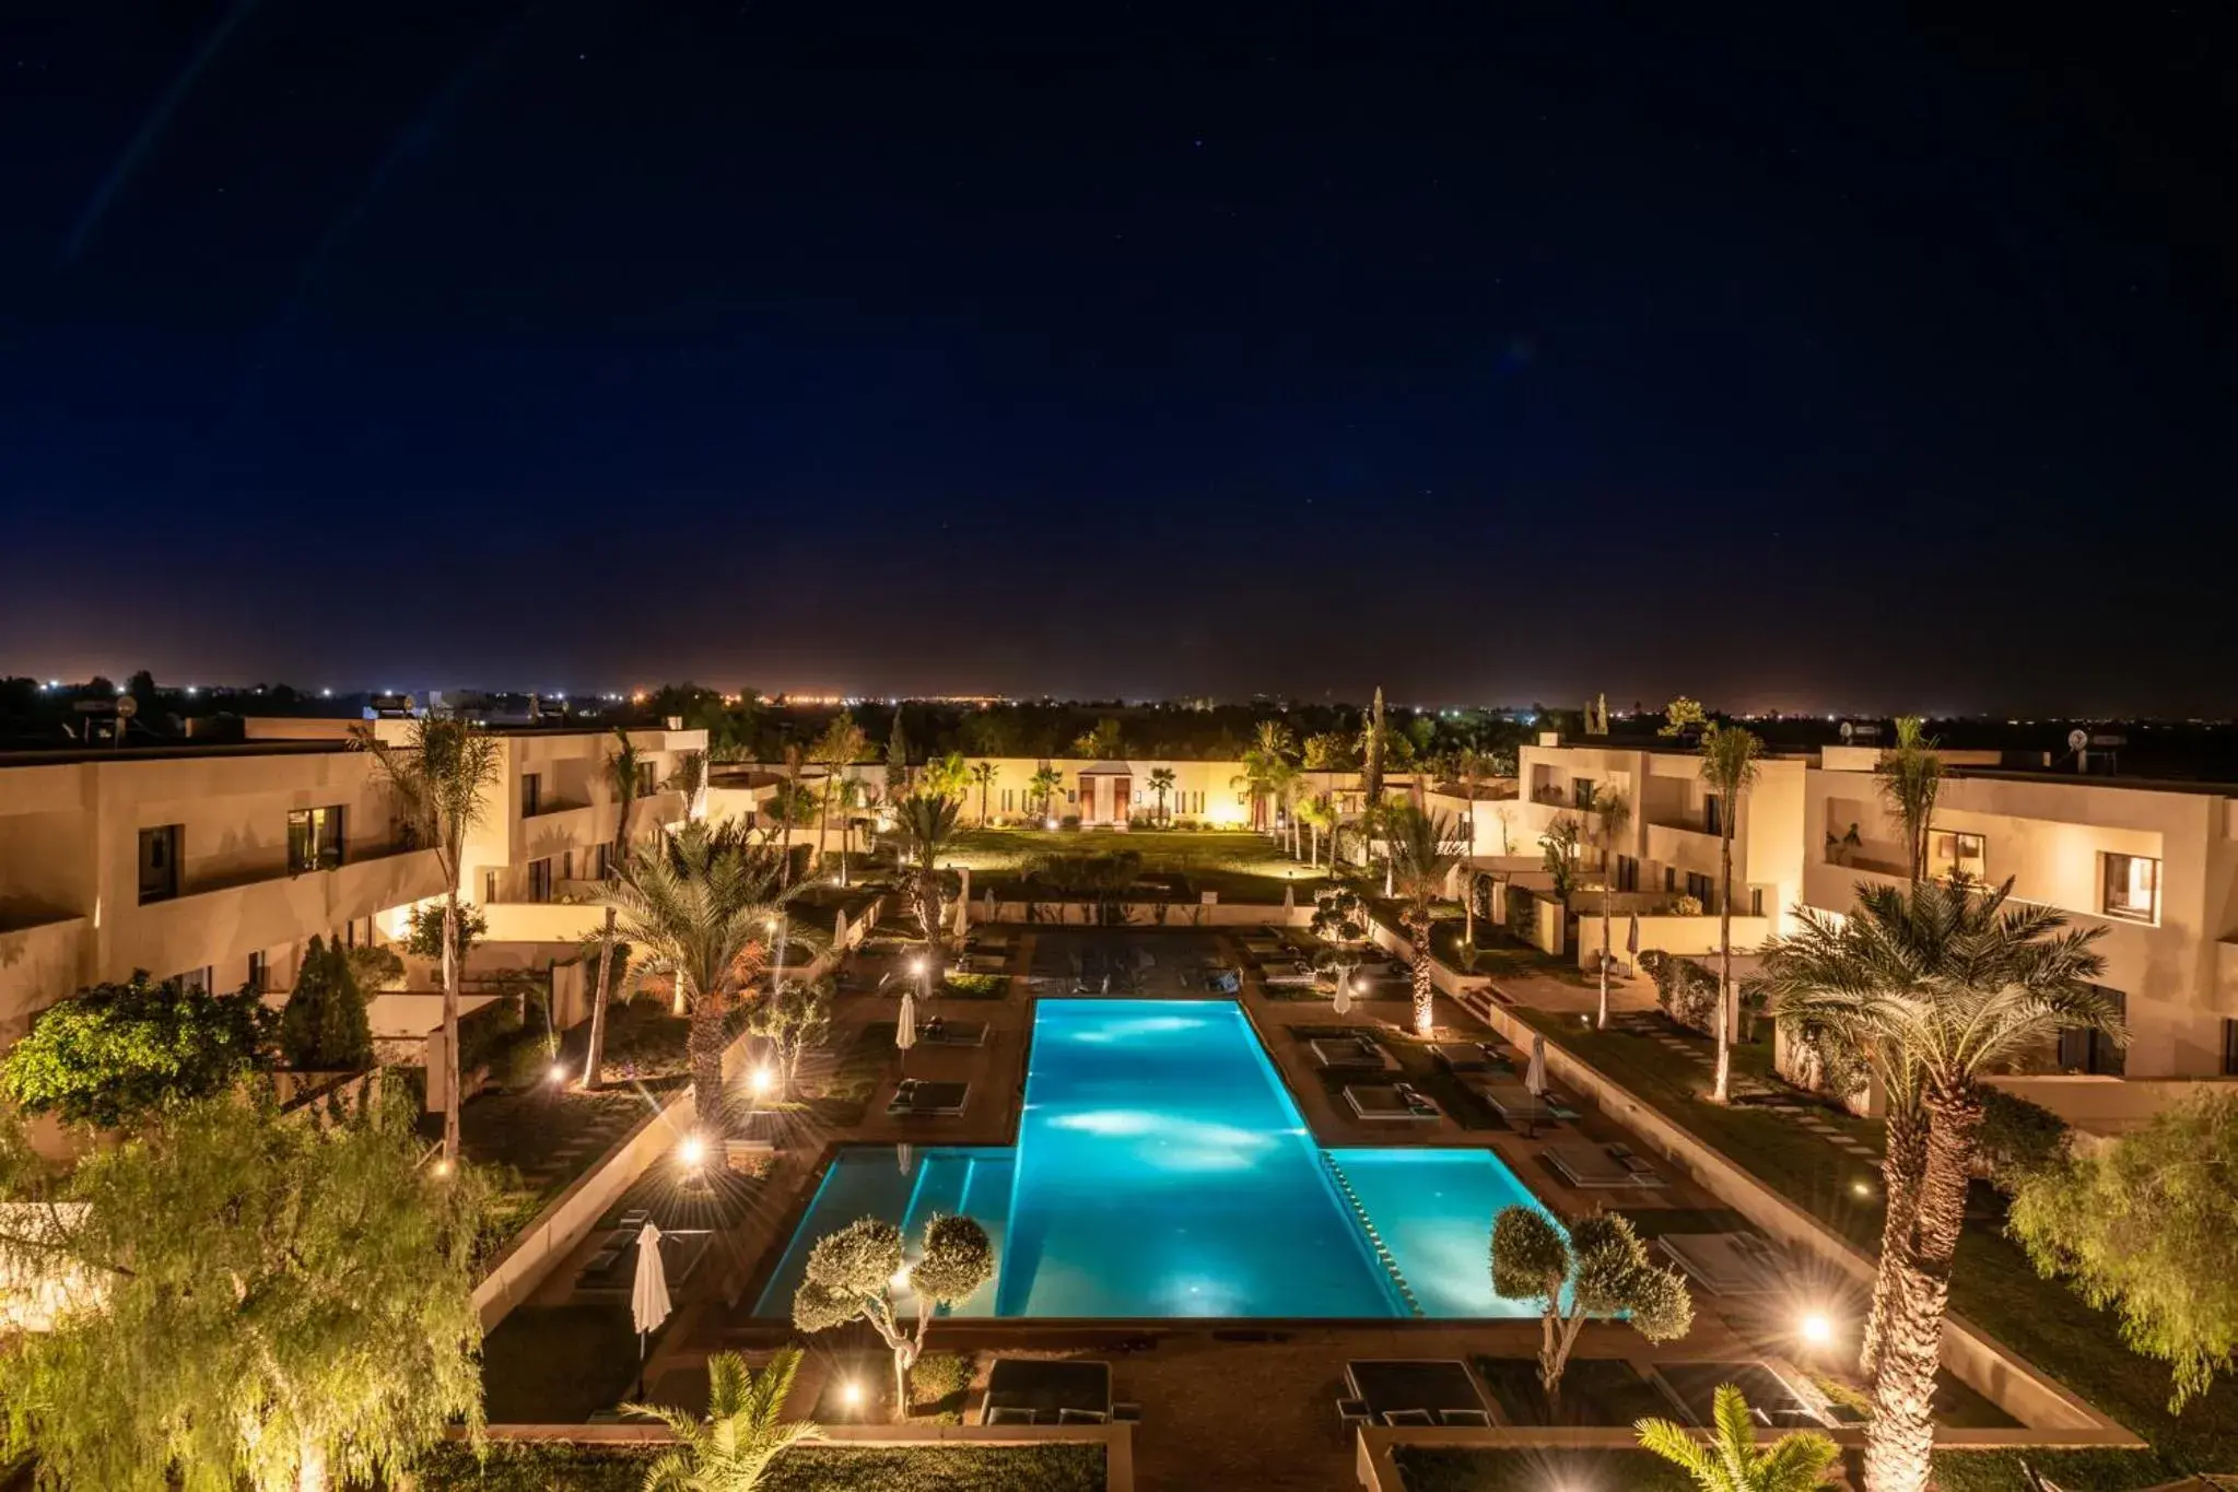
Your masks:
{"label": "lit turquoise swimming pool with side wings amid the garden", "polygon": [[1043,1000],[1014,1148],[850,1145],[756,1315],[815,1241],[976,1217],[996,1277],[958,1315],[1479,1318],[1493,1215],[1538,1206],[1491,1150],[1323,1150],[1233,1000]]}

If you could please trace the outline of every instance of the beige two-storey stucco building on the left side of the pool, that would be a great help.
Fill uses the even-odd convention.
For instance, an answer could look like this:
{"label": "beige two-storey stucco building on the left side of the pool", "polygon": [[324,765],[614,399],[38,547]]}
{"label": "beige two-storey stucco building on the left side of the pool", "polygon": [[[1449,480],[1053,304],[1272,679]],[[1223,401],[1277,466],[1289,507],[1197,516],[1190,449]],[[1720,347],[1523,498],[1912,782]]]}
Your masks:
{"label": "beige two-storey stucco building on the left side of the pool", "polygon": [[[20,752],[0,758],[0,1045],[74,991],[184,978],[293,989],[313,935],[389,942],[443,895],[396,823],[378,765],[338,720],[253,720],[239,745]],[[405,723],[378,727],[401,738]],[[687,812],[662,790],[705,731],[633,731],[651,796],[640,832]],[[613,794],[598,731],[501,734],[461,893],[490,917],[479,964],[537,962],[589,926],[568,897],[602,872]],[[412,971],[414,989],[430,989]]]}

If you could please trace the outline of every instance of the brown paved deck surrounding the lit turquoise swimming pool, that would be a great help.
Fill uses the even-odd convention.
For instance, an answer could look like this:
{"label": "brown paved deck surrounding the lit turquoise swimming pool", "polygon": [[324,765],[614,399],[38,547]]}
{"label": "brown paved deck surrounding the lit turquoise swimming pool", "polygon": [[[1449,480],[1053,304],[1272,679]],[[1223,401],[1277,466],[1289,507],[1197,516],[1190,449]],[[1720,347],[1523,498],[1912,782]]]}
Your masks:
{"label": "brown paved deck surrounding the lit turquoise swimming pool", "polygon": [[[1197,971],[1204,960],[1242,969],[1242,1007],[1285,1085],[1327,1148],[1350,1145],[1459,1145],[1493,1150],[1551,1210],[1582,1217],[1602,1208],[1634,1215],[1645,1233],[1656,1233],[1656,1215],[1674,1226],[1719,1226],[1719,1203],[1683,1177],[1670,1177],[1661,1190],[1578,1190],[1567,1186],[1542,1159],[1546,1139],[1620,1141],[1625,1134],[1598,1112],[1564,1121],[1540,1139],[1506,1127],[1473,1098],[1435,1094],[1455,1109],[1435,1123],[1363,1123],[1341,1098],[1341,1080],[1327,1078],[1307,1047],[1309,1029],[1356,1027],[1372,1031],[1390,1049],[1403,1076],[1426,1069],[1419,1042],[1408,1022],[1412,1007],[1403,982],[1383,986],[1392,998],[1363,1000],[1345,1018],[1336,1018],[1325,1000],[1271,998],[1229,931],[1188,928],[1005,928],[1012,937],[1012,980],[1003,1000],[942,998],[931,1009],[953,1020],[987,1024],[978,1047],[918,1045],[895,1054],[877,1074],[864,1118],[848,1127],[828,1127],[803,1114],[786,1116],[777,1134],[772,1172],[761,1183],[754,1203],[732,1224],[709,1268],[678,1300],[678,1315],[660,1335],[647,1364],[651,1398],[692,1403],[705,1396],[705,1358],[721,1349],[759,1353],[783,1344],[792,1333],[777,1322],[750,1315],[763,1275],[774,1266],[830,1145],[839,1143],[922,1143],[922,1145],[1009,1145],[1016,1141],[1018,1098],[1025,1085],[1025,1058],[1032,1031],[1034,995],[1072,995],[1068,944],[1079,939],[1112,942],[1150,939],[1157,964],[1144,971],[1128,998],[1206,998]],[[875,982],[875,980],[873,980]],[[1115,991],[1117,995],[1119,991]],[[803,1063],[803,1087],[817,1092],[817,1080],[837,1065],[837,1054],[855,1049],[873,1027],[895,1020],[895,998],[884,993],[848,993],[835,1002],[833,1038],[824,1054]],[[1493,1033],[1468,1011],[1437,1004],[1439,1036],[1448,1040],[1493,1040]],[[962,1080],[971,1085],[969,1107],[960,1118],[895,1118],[886,1101],[904,1076]],[[1390,1076],[1401,1074],[1383,1074]],[[1555,1094],[1560,1098],[1560,1092]],[[1576,1107],[1576,1105],[1571,1105]],[[1491,1219],[1486,1219],[1488,1241]],[[1269,1248],[1278,1248],[1269,1239]],[[589,1253],[589,1246],[584,1248]],[[537,1295],[539,1304],[560,1304],[571,1295],[573,1259],[553,1273]],[[1730,1320],[1728,1320],[1730,1318]],[[1251,1485],[1278,1492],[1336,1490],[1354,1485],[1352,1441],[1341,1434],[1334,1400],[1341,1396],[1350,1358],[1470,1358],[1479,1353],[1531,1358],[1538,1351],[1538,1322],[942,1322],[931,1335],[933,1349],[978,1351],[980,1373],[994,1353],[1003,1356],[1092,1356],[1112,1364],[1117,1400],[1141,1405],[1141,1427],[1135,1436],[1137,1485],[1202,1488]],[[1580,1358],[1627,1358],[1636,1364],[1654,1360],[1701,1360],[1759,1356],[1768,1344],[1752,1344],[1743,1315],[1719,1311],[1717,1302],[1699,1300],[1694,1331],[1670,1347],[1652,1347],[1620,1324],[1591,1324],[1578,1342]],[[808,1360],[797,1405],[815,1405],[821,1385],[839,1371],[864,1371],[864,1353],[877,1358],[868,1329],[821,1333],[808,1342]],[[880,1369],[884,1371],[884,1369]],[[978,1403],[976,1396],[971,1400]]]}

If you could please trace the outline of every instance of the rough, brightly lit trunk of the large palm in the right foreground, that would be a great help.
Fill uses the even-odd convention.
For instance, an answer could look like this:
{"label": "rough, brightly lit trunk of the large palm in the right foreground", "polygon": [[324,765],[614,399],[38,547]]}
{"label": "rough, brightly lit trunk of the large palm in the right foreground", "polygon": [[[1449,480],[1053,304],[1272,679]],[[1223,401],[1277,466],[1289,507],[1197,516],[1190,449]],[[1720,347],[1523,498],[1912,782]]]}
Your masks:
{"label": "rough, brightly lit trunk of the large palm in the right foreground", "polygon": [[1965,1226],[1967,1165],[1981,1130],[1981,1098],[1940,1094],[1927,1103],[1927,1143],[1907,1246],[1882,1273],[1896,1275],[1880,1322],[1873,1418],[1864,1429],[1864,1485],[1925,1492],[1936,1443],[1936,1367],[1949,1311],[1952,1259]]}

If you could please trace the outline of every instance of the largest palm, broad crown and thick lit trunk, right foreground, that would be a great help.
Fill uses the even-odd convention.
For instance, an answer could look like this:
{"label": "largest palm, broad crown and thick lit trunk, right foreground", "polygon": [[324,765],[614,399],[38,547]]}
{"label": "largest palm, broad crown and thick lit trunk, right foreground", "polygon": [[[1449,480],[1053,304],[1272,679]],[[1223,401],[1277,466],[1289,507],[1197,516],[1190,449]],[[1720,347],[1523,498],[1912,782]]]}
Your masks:
{"label": "largest palm, broad crown and thick lit trunk, right foreground", "polygon": [[1887,1192],[1907,1199],[1909,1221],[1882,1237],[1873,1279],[1880,1338],[1864,1474],[1875,1492],[1927,1485],[1929,1407],[1983,1074],[2061,1031],[2126,1040],[2093,984],[2104,971],[2093,946],[2101,928],[2070,931],[2052,908],[2010,904],[2010,895],[2012,881],[1860,886],[1846,917],[1802,908],[1799,931],[1766,944],[1761,989],[1772,1018],[1831,1033],[1891,1094],[1916,1096],[1925,1130],[1916,1152],[1889,1145],[1882,1161]]}

